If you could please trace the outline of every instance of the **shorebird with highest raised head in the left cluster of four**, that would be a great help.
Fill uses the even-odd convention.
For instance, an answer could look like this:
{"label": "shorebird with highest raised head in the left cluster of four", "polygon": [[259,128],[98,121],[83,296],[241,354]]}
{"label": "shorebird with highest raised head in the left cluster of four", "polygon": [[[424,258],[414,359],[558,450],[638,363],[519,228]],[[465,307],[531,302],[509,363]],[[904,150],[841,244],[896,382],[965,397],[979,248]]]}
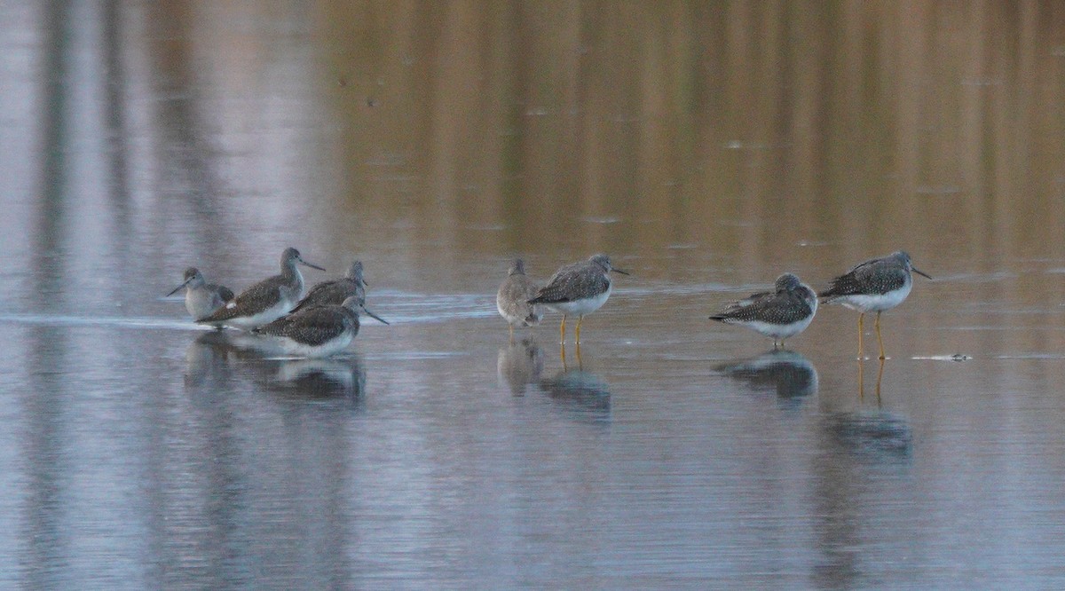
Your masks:
{"label": "shorebird with highest raised head in the left cluster of four", "polygon": [[281,275],[268,277],[251,285],[232,301],[197,322],[250,330],[283,316],[304,295],[304,276],[296,263],[325,270],[305,261],[295,248],[285,248],[281,253]]}

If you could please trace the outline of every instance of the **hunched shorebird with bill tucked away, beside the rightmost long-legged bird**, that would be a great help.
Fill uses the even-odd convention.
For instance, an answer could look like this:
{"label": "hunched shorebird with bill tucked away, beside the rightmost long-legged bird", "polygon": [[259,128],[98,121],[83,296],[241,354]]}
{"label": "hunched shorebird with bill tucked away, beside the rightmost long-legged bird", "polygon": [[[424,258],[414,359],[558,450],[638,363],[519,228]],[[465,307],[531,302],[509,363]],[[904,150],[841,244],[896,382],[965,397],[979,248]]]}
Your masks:
{"label": "hunched shorebird with bill tucked away, beside the rightmost long-legged bird", "polygon": [[710,319],[772,336],[775,349],[777,341],[783,347],[785,339],[806,330],[816,313],[817,294],[814,290],[794,274],[785,273],[776,278],[775,291],[753,294],[734,301],[720,314],[710,316]]}

